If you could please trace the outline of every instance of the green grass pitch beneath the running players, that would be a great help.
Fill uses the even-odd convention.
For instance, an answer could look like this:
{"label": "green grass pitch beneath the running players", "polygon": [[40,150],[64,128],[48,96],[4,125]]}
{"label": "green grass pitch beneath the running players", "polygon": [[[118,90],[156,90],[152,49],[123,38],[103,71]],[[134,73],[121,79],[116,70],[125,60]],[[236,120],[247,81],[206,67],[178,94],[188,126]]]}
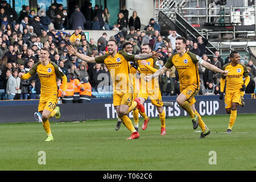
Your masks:
{"label": "green grass pitch beneath the running players", "polygon": [[[159,118],[151,119],[141,137],[126,140],[116,120],[51,122],[53,142],[44,142],[41,123],[0,125],[0,170],[256,170],[256,114],[237,115],[233,133],[225,133],[229,115],[205,116],[211,134],[198,139],[189,117],[167,118],[160,136]],[[46,164],[39,165],[39,151]],[[209,164],[210,151],[216,164]]]}

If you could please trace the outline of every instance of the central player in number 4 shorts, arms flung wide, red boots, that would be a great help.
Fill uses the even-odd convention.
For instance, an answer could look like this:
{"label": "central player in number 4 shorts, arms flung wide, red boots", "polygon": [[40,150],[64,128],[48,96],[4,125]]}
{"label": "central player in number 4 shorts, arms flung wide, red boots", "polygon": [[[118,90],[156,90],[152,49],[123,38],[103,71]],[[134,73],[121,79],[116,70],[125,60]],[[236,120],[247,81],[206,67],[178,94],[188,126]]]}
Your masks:
{"label": "central player in number 4 shorts, arms flung wide, red boots", "polygon": [[89,57],[76,51],[72,46],[68,46],[68,51],[88,63],[104,63],[109,69],[113,81],[113,105],[117,110],[117,115],[122,119],[123,124],[131,131],[131,137],[127,139],[139,138],[139,133],[135,130],[131,119],[127,113],[135,109],[137,102],[133,102],[132,84],[129,82],[129,64],[135,59],[148,59],[150,57],[159,57],[160,53],[132,55],[125,51],[117,52],[117,41],[110,39],[108,42],[108,53],[99,57]]}

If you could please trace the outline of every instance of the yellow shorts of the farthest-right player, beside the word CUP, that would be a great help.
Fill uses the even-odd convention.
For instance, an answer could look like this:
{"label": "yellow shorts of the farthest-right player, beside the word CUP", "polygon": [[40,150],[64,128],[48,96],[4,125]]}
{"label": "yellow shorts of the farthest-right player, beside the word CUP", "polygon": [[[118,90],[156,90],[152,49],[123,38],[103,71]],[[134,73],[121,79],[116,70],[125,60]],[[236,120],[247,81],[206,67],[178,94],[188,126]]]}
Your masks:
{"label": "yellow shorts of the farthest-right player, beside the word CUP", "polygon": [[241,105],[241,98],[245,93],[243,92],[228,92],[225,93],[225,108],[231,108],[232,102],[237,102]]}

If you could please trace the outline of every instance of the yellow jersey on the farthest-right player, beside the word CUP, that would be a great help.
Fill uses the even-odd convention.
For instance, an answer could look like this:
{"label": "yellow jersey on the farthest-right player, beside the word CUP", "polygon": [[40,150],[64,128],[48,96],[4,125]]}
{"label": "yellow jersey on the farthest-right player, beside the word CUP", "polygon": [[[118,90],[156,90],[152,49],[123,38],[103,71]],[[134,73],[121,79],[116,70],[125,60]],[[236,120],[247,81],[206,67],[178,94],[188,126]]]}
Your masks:
{"label": "yellow jersey on the farthest-right player, beside the word CUP", "polygon": [[244,84],[243,77],[249,76],[245,65],[237,64],[236,67],[233,67],[230,63],[228,63],[225,64],[222,69],[229,71],[227,76],[221,76],[221,78],[226,79],[226,92],[239,92]]}

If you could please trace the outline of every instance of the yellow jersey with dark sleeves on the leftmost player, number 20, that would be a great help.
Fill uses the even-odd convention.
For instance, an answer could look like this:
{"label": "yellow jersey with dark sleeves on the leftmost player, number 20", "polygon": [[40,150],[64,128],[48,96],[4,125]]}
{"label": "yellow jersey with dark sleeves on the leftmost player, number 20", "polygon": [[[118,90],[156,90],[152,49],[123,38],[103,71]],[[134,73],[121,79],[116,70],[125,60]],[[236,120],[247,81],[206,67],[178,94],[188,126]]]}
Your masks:
{"label": "yellow jersey with dark sleeves on the leftmost player, number 20", "polygon": [[57,97],[56,80],[57,77],[61,78],[64,76],[64,73],[60,67],[51,61],[49,61],[49,64],[46,66],[42,65],[41,62],[38,62],[30,69],[28,73],[31,76],[38,73],[38,77],[41,82],[41,97]]}

